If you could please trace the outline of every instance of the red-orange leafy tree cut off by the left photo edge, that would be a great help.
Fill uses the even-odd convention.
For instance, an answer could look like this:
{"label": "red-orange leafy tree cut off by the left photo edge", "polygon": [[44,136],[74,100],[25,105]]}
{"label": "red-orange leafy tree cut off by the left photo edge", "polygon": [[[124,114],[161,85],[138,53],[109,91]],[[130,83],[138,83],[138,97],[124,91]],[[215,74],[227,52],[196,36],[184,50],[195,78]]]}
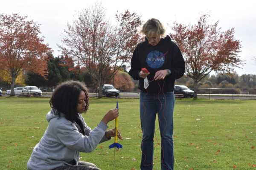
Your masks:
{"label": "red-orange leafy tree cut off by the left photo edge", "polygon": [[26,17],[0,14],[0,69],[12,77],[11,96],[15,95],[15,81],[20,73],[47,74],[50,48],[39,37],[38,24],[26,21]]}

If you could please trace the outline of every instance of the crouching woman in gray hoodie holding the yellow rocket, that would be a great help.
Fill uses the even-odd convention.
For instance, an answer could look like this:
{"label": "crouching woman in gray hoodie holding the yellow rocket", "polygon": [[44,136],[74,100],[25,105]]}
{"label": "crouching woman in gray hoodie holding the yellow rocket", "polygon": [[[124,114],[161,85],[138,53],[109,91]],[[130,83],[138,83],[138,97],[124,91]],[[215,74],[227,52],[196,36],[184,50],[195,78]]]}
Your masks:
{"label": "crouching woman in gray hoodie holding the yellow rocket", "polygon": [[[40,142],[35,145],[27,163],[29,170],[100,170],[95,164],[80,161],[80,152],[92,152],[96,146],[115,136],[108,122],[115,119],[118,109],[108,111],[99,125],[91,130],[81,113],[89,106],[87,88],[81,82],[63,82],[50,99],[49,122]],[[118,130],[117,136],[122,140]]]}

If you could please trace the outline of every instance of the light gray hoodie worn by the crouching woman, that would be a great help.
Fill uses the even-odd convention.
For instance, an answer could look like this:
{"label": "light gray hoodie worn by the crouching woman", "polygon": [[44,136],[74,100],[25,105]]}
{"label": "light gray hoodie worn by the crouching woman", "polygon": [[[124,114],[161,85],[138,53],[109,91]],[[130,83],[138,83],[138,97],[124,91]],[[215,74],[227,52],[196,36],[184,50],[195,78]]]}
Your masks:
{"label": "light gray hoodie worn by the crouching woman", "polygon": [[67,162],[72,160],[78,164],[80,152],[92,152],[99,143],[110,140],[105,136],[108,125],[99,122],[99,125],[91,130],[81,114],[79,118],[84,123],[85,136],[79,133],[75,123],[67,120],[63,113],[60,118],[52,111],[47,113],[49,125],[33,149],[27,163],[29,170],[51,170],[62,165],[70,165]]}

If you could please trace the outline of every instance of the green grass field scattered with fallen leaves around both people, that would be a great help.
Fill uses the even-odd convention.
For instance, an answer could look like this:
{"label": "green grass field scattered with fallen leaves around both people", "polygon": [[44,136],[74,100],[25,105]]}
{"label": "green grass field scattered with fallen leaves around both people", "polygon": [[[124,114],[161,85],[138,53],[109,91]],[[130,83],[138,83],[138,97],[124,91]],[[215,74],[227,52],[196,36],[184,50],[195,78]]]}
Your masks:
{"label": "green grass field scattered with fallen leaves around both people", "polygon": [[[175,170],[256,170],[255,100],[177,99],[174,111]],[[85,122],[92,129],[116,107],[116,99],[90,99]],[[49,98],[0,97],[0,169],[26,170],[26,163],[47,128]],[[108,124],[114,127],[114,121]],[[81,153],[102,170],[140,169],[139,99],[119,99],[123,149],[99,144]],[[160,170],[160,133],[156,124],[154,170]],[[115,164],[114,164],[115,155]]]}

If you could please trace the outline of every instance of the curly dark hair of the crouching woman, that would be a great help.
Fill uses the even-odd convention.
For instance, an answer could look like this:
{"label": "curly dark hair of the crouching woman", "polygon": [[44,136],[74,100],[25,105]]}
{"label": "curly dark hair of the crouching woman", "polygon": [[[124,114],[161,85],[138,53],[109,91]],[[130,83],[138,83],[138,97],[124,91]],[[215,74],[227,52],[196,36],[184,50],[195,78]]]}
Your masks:
{"label": "curly dark hair of the crouching woman", "polygon": [[77,105],[79,95],[84,91],[86,96],[86,106],[84,112],[89,107],[89,95],[86,85],[78,81],[66,81],[57,86],[50,99],[50,106],[54,114],[64,113],[65,118],[74,122],[77,117]]}

